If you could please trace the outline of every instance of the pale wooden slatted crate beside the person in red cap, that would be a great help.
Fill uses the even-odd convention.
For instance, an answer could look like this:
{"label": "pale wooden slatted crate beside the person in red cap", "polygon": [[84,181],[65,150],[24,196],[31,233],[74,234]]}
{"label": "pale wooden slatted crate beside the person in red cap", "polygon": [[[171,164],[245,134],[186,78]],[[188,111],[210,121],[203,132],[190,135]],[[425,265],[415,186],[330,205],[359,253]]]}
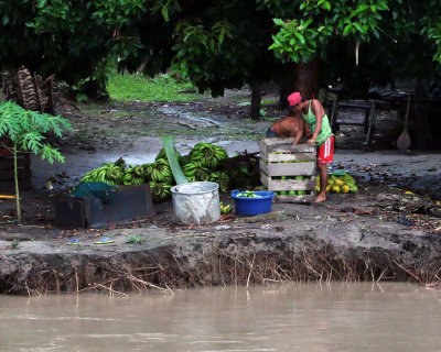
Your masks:
{"label": "pale wooden slatted crate beside the person in red cap", "polygon": [[[306,195],[275,197],[276,202],[312,202],[315,198],[316,148],[311,144],[292,145],[294,138],[262,139],[260,180],[268,190],[304,190]],[[290,179],[281,179],[282,176]],[[306,176],[309,179],[292,179]]]}

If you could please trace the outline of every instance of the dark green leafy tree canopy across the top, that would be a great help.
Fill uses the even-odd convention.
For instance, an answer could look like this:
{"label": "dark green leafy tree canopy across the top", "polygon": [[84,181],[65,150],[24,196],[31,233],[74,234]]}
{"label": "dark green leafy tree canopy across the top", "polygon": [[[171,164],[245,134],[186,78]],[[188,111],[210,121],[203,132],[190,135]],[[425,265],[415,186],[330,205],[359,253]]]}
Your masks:
{"label": "dark green leafy tree canopy across the top", "polygon": [[2,0],[0,67],[103,87],[109,63],[179,69],[201,91],[281,81],[318,62],[349,91],[433,77],[439,0]]}

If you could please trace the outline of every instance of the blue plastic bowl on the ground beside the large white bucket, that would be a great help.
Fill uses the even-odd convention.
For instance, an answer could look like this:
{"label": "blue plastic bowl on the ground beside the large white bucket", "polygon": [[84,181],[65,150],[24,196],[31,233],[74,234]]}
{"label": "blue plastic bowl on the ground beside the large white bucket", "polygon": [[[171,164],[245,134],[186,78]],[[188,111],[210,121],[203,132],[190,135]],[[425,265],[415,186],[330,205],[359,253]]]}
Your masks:
{"label": "blue plastic bowl on the ground beside the large white bucket", "polygon": [[237,197],[238,194],[243,193],[245,191],[238,189],[232,190],[232,198],[235,201],[236,213],[244,216],[258,216],[259,213],[271,211],[272,198],[275,197],[273,191],[255,190],[255,194],[260,197]]}

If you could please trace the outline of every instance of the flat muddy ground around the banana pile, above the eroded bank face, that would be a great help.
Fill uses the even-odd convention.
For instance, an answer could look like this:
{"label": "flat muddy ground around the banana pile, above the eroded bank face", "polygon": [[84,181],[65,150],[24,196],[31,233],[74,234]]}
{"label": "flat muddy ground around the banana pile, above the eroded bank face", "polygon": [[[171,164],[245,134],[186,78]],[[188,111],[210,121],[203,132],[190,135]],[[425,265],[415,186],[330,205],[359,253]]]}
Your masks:
{"label": "flat muddy ground around the banana pile, above the eroded bank face", "polygon": [[[277,97],[268,94],[263,99],[273,103],[263,106],[267,118],[251,121],[247,119],[248,108],[241,105],[249,99],[249,91],[238,90],[228,91],[224,98],[206,98],[191,103],[65,102],[60,107],[60,112],[69,119],[74,131],[62,141],[51,142],[60,147],[66,157],[66,163],[49,165],[37,157],[32,157],[33,189],[21,195],[23,226],[17,226],[13,221],[14,202],[0,200],[0,254],[3,260],[9,260],[9,263],[0,263],[0,276],[19,275],[23,262],[26,261],[33,263],[29,264],[29,267],[35,265],[39,267],[40,264],[36,263],[39,258],[47,255],[66,255],[66,263],[71,264],[74,257],[86,263],[87,258],[90,260],[94,255],[100,256],[101,260],[109,256],[115,260],[115,256],[120,258],[121,253],[135,255],[135,252],[137,255],[143,253],[142,260],[146,260],[147,252],[157,257],[158,251],[162,253],[164,248],[173,248],[173,255],[181,257],[186,265],[191,265],[192,261],[189,257],[192,255],[189,256],[189,253],[201,250],[200,241],[206,240],[204,245],[206,243],[220,245],[222,242],[234,252],[237,249],[232,248],[232,243],[237,239],[245,238],[257,248],[261,241],[276,245],[271,239],[288,241],[287,239],[300,235],[303,241],[301,246],[305,245],[306,241],[310,244],[314,242],[311,249],[321,250],[323,243],[331,243],[331,248],[342,251],[352,246],[357,246],[357,251],[362,252],[365,251],[364,246],[374,252],[379,249],[381,253],[390,252],[396,255],[399,263],[405,258],[409,265],[407,267],[412,268],[417,263],[424,262],[426,257],[426,264],[421,264],[411,273],[426,275],[427,280],[437,279],[438,274],[433,273],[438,273],[435,268],[439,267],[437,265],[440,264],[440,258],[433,257],[431,251],[438,246],[441,239],[441,154],[419,151],[398,153],[394,148],[394,142],[401,131],[402,121],[397,121],[391,111],[379,111],[374,143],[370,145],[363,143],[365,134],[359,129],[346,128],[336,134],[334,166],[346,169],[356,178],[359,189],[356,195],[329,195],[327,200],[320,205],[275,204],[272,212],[267,218],[251,219],[232,215],[223,217],[214,224],[175,224],[172,204],[169,201],[154,204],[154,216],[104,229],[62,230],[54,227],[53,200],[56,194],[75,186],[84,173],[100,166],[104,162],[115,162],[120,156],[128,164],[152,162],[162,147],[160,135],[175,136],[175,146],[181,154],[186,154],[200,141],[219,144],[229,155],[237,152],[257,152],[257,141],[263,136],[271,121],[284,112],[277,109]],[[355,111],[343,111],[342,114],[354,120],[361,119]],[[224,202],[233,202],[228,193],[220,194],[220,198]],[[311,237],[314,233],[318,237],[312,241]],[[345,237],[344,240],[338,238],[340,233]],[[97,239],[105,235],[111,237],[115,243],[105,246],[94,244]],[[133,235],[140,235],[142,240],[138,244],[128,243],[128,239]],[[74,238],[83,243],[79,250],[66,245],[66,242]],[[224,243],[229,241],[228,238],[233,239],[233,242]],[[182,241],[185,239],[190,241],[183,244]],[[11,244],[13,240],[20,241],[20,245],[15,249]],[[278,245],[273,250],[277,248]],[[406,255],[416,248],[420,249],[418,255],[409,260]],[[270,246],[263,250],[266,253],[271,253]],[[293,251],[299,250],[293,249]],[[233,252],[228,255],[233,255]],[[244,250],[244,253],[251,255],[249,249]],[[256,253],[259,252],[254,252],[252,255]],[[366,252],[363,253],[364,256]],[[375,253],[377,264],[375,268],[367,265],[369,270],[391,273],[404,265],[385,268],[380,262],[386,258],[380,258],[383,254]],[[22,257],[20,264],[14,257],[17,254],[25,257],[25,260]],[[305,260],[304,253],[302,255]],[[83,256],[85,258],[79,258]],[[204,254],[198,260],[203,262],[203,257]],[[50,264],[55,265],[54,261],[56,260],[52,258]],[[137,262],[135,258],[132,261]],[[349,258],[338,264],[343,265],[342,271],[346,273],[344,277],[356,278],[349,277],[352,274],[347,272],[346,261]],[[366,257],[363,261],[366,261]],[[84,265],[87,266],[87,263]],[[179,265],[183,265],[183,262]],[[54,267],[56,270],[57,266]],[[193,273],[192,275],[196,275],[196,272],[187,270]],[[412,277],[406,271],[409,270],[401,271],[406,274],[402,277]],[[430,278],[429,272],[432,273]],[[25,274],[30,276],[33,273],[34,270],[29,268]],[[418,275],[413,274],[416,277]],[[86,276],[85,274],[83,277],[83,285],[87,286],[90,279]],[[232,276],[229,283],[236,278]],[[18,279],[21,283],[18,292],[23,290],[23,279]],[[180,279],[184,280],[182,277]],[[207,278],[206,280],[209,282]],[[160,283],[161,279],[157,282]],[[195,279],[194,284],[201,283],[204,283],[203,278]],[[35,287],[41,287],[39,285],[35,284]],[[11,289],[6,284],[0,286],[3,289]],[[66,286],[64,289],[72,290],[72,287]]]}

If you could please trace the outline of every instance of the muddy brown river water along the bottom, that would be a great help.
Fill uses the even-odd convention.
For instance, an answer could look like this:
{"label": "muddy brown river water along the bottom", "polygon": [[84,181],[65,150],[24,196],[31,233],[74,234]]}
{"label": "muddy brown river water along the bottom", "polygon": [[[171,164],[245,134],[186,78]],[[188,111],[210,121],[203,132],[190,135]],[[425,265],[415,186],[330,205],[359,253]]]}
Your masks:
{"label": "muddy brown river water along the bottom", "polygon": [[441,292],[411,284],[0,297],[0,351],[441,351]]}

